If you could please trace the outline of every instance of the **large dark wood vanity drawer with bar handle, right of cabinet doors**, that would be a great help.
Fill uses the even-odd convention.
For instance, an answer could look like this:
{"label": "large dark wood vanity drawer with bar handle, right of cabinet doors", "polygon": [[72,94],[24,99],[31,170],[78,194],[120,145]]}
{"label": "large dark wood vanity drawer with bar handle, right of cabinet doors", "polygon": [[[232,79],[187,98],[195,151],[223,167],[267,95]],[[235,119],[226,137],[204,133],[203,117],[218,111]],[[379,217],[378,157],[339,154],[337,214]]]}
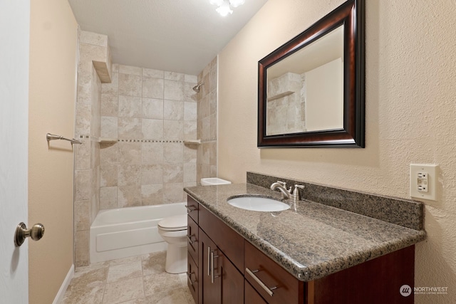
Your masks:
{"label": "large dark wood vanity drawer with bar handle, right of cabinet doors", "polygon": [[[304,303],[304,282],[281,268],[248,241],[245,241],[244,276],[267,303]],[[268,293],[266,289],[269,288],[273,289]]]}

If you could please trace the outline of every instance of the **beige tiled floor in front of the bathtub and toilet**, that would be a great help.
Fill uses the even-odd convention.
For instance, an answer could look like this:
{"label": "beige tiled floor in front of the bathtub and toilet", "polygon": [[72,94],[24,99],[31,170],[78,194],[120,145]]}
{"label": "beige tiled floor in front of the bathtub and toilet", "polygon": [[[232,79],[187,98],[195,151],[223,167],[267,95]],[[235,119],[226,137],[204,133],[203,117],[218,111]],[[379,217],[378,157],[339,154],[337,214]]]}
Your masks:
{"label": "beige tiled floor in front of the bathtub and toilet", "polygon": [[77,268],[64,304],[195,304],[185,273],[165,272],[157,252]]}

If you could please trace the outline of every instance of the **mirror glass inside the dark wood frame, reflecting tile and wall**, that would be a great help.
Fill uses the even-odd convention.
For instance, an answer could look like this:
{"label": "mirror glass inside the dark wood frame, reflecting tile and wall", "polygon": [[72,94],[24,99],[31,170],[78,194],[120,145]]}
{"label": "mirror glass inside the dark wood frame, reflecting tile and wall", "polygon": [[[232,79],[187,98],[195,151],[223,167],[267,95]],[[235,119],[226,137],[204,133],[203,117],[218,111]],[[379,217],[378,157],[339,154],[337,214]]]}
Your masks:
{"label": "mirror glass inside the dark wood frame, reflecting tile and wall", "polygon": [[343,129],[343,25],[266,69],[266,136]]}

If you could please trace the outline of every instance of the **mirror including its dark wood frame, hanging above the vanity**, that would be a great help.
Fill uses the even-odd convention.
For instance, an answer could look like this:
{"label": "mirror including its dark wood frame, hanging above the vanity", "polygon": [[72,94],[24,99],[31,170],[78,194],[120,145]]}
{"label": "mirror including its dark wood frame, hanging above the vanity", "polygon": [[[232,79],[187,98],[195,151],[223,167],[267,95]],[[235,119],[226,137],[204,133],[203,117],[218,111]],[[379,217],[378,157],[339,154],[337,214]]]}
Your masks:
{"label": "mirror including its dark wood frame, hanging above the vanity", "polygon": [[258,147],[364,147],[364,15],[348,0],[258,62]]}

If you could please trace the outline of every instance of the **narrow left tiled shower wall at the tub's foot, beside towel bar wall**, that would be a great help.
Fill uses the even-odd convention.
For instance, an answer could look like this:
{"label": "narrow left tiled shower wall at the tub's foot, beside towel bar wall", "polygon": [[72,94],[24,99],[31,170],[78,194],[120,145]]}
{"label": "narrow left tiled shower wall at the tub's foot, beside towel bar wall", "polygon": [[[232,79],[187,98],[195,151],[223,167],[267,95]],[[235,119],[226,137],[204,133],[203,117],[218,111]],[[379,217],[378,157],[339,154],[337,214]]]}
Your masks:
{"label": "narrow left tiled shower wall at the tub's foot, beside towel bar wall", "polygon": [[[101,125],[101,80],[98,71],[104,64],[104,74],[110,77],[108,36],[80,31],[79,53],[75,135],[83,145],[75,145],[76,267],[89,263],[89,229],[100,210],[100,145],[97,140]],[[98,63],[98,71],[94,63]]]}

